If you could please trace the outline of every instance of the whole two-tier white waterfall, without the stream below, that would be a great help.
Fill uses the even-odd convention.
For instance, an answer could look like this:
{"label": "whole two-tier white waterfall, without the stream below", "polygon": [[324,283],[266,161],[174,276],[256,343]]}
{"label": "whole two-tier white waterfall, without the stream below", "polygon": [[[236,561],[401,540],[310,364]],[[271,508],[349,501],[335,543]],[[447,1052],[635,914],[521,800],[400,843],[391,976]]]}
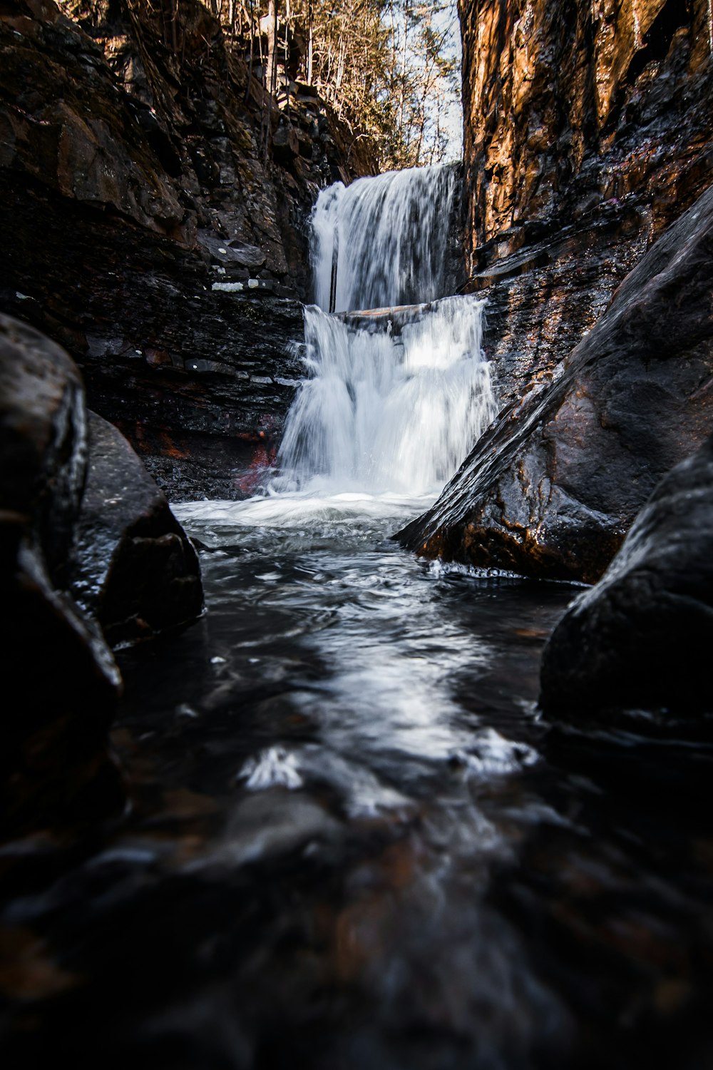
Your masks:
{"label": "whole two-tier white waterfall, without the stream below", "polygon": [[273,491],[435,496],[495,415],[483,302],[441,296],[454,174],[412,168],[320,195],[308,378]]}

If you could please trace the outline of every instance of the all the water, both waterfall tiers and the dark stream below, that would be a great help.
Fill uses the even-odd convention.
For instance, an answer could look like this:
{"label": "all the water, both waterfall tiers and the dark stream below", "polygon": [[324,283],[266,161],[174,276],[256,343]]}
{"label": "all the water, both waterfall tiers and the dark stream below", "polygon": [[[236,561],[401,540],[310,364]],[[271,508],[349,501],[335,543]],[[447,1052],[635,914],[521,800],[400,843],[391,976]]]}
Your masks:
{"label": "all the water, both waterfall tiers and the dark stream below", "polygon": [[13,1066],[711,1065],[710,748],[544,725],[573,588],[389,538],[496,407],[481,303],[437,300],[451,195],[321,195],[277,469],[175,506],[207,613],[121,654],[131,813],[68,871],[41,846],[3,918]]}

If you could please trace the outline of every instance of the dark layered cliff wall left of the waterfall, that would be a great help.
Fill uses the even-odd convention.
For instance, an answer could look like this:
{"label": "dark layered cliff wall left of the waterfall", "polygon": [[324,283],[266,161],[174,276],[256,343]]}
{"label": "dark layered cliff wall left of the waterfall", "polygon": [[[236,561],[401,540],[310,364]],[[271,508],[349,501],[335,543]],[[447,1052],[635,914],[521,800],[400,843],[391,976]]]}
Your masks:
{"label": "dark layered cliff wall left of the waterfall", "polygon": [[248,89],[202,4],[175,49],[130,4],[64,6],[0,18],[0,309],[67,348],[174,498],[239,496],[299,373],[311,204],[372,162],[311,91]]}

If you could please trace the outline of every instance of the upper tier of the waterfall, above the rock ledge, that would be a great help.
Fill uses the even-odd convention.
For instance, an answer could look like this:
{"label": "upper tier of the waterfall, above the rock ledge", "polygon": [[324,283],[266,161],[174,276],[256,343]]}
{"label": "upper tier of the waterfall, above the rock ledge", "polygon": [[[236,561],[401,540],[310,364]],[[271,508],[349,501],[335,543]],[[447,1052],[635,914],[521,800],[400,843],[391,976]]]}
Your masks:
{"label": "upper tier of the waterfall, above the rock ledge", "polygon": [[324,189],[312,214],[314,300],[324,311],[445,294],[452,167],[412,167]]}

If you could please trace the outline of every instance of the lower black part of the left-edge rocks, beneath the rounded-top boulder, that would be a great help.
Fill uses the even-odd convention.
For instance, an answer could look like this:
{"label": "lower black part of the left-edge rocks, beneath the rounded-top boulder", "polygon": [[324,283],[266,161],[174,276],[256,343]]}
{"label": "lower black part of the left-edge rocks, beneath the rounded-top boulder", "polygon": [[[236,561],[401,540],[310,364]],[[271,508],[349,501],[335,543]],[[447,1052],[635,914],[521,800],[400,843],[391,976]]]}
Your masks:
{"label": "lower black part of the left-edge rocks, beneath the rounded-top boulder", "polygon": [[0,837],[92,825],[124,802],[108,730],[121,677],[102,631],[2,525]]}

